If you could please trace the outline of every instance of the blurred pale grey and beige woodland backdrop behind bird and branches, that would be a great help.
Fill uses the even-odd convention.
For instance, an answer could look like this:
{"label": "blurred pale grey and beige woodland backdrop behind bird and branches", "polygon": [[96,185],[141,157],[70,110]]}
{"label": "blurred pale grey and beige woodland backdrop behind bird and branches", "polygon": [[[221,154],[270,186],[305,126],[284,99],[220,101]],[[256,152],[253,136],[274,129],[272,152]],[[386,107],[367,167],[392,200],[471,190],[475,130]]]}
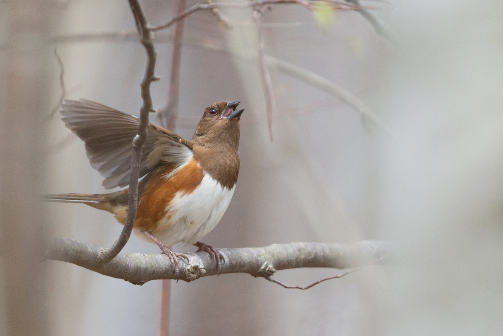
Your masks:
{"label": "blurred pale grey and beige woodland backdrop behind bird and branches", "polygon": [[[141,3],[153,25],[177,12],[177,2]],[[190,139],[206,106],[242,101],[237,188],[205,243],[380,239],[394,242],[397,252],[383,266],[307,291],[246,274],[173,282],[172,335],[503,333],[503,3],[362,5],[374,9],[390,36],[376,34],[357,12],[276,5],[262,16],[265,52],[351,92],[389,131],[316,85],[270,67],[277,105],[271,142],[251,10],[226,8],[231,21],[243,24],[227,29],[210,11],[185,20],[176,132]],[[25,303],[36,312],[34,325],[43,325],[33,334],[157,334],[160,281],[135,286],[58,261],[41,267],[42,252],[27,248],[49,235],[109,246],[122,229],[112,215],[84,205],[39,209],[32,203],[30,212],[13,214],[10,203],[19,198],[23,204],[23,190],[105,192],[81,141],[58,114],[47,118],[61,95],[53,52],[64,64],[66,98],[138,115],[146,56],[128,3],[0,1],[0,20],[0,334],[30,311],[23,311]],[[158,108],[167,102],[173,33],[174,26],[156,33],[161,80],[151,89]],[[158,123],[154,114],[150,120]],[[16,184],[19,167],[31,176],[23,178],[24,189]],[[21,213],[32,217],[16,227]],[[159,251],[132,236],[123,252]],[[36,267],[13,278],[16,260]],[[339,273],[300,269],[274,278],[307,285]],[[17,285],[35,294],[16,296]]]}

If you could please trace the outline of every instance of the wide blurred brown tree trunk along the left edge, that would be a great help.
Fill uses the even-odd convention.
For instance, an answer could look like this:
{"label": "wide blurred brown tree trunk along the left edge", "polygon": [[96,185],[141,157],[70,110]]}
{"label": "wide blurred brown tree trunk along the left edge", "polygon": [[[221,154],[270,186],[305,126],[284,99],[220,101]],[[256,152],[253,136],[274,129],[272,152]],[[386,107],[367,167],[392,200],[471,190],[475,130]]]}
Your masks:
{"label": "wide blurred brown tree trunk along the left edge", "polygon": [[0,119],[0,221],[3,334],[47,334],[43,268],[45,235],[37,187],[44,165],[41,119],[48,114],[49,9],[45,1],[3,4],[6,43],[2,59]]}

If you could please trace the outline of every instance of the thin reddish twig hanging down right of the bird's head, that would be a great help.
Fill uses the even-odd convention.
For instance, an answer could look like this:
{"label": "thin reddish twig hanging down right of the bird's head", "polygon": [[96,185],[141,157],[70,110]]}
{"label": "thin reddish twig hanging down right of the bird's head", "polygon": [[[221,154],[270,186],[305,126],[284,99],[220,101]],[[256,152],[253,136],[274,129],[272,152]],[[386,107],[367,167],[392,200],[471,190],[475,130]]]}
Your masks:
{"label": "thin reddish twig hanging down right of the bird's head", "polygon": [[264,88],[264,95],[266,96],[266,106],[267,106],[267,125],[269,128],[269,137],[273,141],[273,113],[276,110],[276,102],[274,99],[273,84],[271,82],[271,75],[269,74],[269,69],[267,68],[266,58],[264,54],[264,35],[262,31],[262,25],[260,22],[259,11],[253,11],[253,18],[257,24],[257,35],[259,42],[259,64],[260,64],[260,77],[262,79],[262,87]]}

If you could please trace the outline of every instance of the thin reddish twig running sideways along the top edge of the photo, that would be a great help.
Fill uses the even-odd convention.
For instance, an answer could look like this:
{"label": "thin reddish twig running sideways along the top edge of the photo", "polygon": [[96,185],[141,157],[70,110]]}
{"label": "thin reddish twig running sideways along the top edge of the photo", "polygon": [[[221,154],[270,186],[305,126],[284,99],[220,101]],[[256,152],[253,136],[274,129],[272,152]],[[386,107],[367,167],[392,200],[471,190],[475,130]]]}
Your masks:
{"label": "thin reddish twig running sideways along the top edge of the photo", "polygon": [[[333,8],[336,8],[341,11],[353,11],[357,8],[354,5],[350,5],[345,2],[333,1],[333,0],[324,0],[323,2],[330,4]],[[210,3],[210,4],[196,4],[186,10],[185,12],[177,15],[170,21],[163,23],[162,25],[156,26],[152,28],[152,30],[160,30],[167,27],[170,27],[175,22],[184,19],[185,17],[191,15],[194,12],[199,10],[213,10],[215,8],[223,8],[223,7],[234,7],[234,8],[246,8],[246,7],[255,7],[255,6],[266,6],[266,5],[274,5],[274,4],[294,4],[300,5],[308,10],[312,9],[312,5],[318,3],[318,1],[313,0],[254,0],[244,3]]]}

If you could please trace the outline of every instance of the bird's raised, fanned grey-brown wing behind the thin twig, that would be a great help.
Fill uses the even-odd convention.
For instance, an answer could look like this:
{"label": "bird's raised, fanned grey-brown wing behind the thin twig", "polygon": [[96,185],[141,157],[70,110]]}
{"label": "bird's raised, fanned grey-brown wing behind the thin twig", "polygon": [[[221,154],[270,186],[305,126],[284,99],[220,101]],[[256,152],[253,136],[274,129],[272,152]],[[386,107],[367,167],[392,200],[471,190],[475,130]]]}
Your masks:
{"label": "bird's raised, fanned grey-brown wing behind the thin twig", "polygon": [[[138,131],[139,119],[90,100],[65,100],[61,120],[86,144],[91,166],[105,177],[103,186],[111,189],[129,184],[131,143]],[[192,144],[175,133],[149,123],[143,146],[140,177],[159,163],[174,168],[192,158]]]}

